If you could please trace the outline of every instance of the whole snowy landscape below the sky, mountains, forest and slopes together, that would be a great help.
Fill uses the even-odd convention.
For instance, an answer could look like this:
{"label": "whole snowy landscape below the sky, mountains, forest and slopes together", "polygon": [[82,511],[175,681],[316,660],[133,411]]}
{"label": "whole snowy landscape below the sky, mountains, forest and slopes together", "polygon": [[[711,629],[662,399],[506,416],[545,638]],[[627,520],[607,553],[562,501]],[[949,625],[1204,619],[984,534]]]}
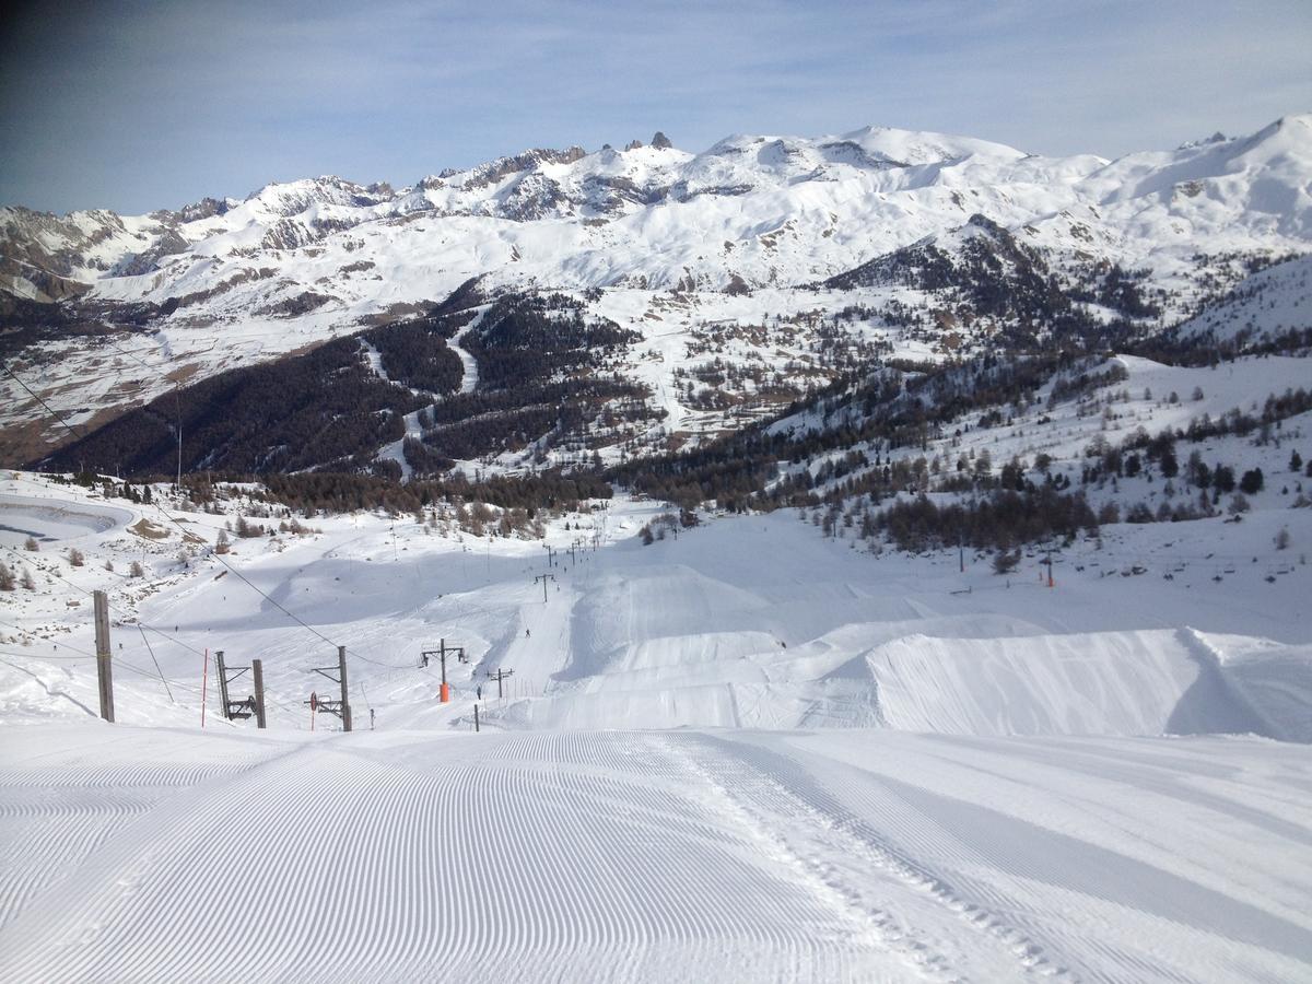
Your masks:
{"label": "whole snowy landscape below the sky, mountains, forest and slopes together", "polygon": [[1309,177],[0,211],[0,984],[1312,980]]}

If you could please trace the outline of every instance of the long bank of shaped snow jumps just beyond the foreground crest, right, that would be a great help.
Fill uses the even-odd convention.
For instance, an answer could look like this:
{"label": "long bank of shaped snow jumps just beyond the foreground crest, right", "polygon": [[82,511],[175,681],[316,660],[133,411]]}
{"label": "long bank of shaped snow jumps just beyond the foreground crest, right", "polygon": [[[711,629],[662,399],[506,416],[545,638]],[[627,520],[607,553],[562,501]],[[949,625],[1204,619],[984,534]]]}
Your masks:
{"label": "long bank of shaped snow jumps just beyond the foreground crest, right", "polygon": [[[866,640],[887,635],[869,626]],[[765,634],[670,636],[518,702],[526,728],[888,727],[946,735],[1257,733],[1312,741],[1312,659],[1223,661],[1194,630],[963,639],[851,628],[795,649]]]}

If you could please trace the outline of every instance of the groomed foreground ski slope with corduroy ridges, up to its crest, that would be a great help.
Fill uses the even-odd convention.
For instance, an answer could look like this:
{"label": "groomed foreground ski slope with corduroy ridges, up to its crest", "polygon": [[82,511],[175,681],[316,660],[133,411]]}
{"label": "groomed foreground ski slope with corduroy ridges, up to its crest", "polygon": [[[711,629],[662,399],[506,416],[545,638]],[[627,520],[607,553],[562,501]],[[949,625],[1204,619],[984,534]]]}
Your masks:
{"label": "groomed foreground ski slope with corduroy ridges, up to its crest", "polygon": [[890,731],[10,731],[0,980],[1299,980],[1312,762]]}

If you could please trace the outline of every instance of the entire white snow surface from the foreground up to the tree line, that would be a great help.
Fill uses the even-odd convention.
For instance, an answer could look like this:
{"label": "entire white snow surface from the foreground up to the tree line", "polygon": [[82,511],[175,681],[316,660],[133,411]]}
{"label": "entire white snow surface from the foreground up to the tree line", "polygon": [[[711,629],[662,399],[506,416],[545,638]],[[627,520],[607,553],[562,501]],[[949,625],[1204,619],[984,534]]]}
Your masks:
{"label": "entire white snow surface from the foreground up to the tree line", "polygon": [[[556,521],[551,568],[412,518],[236,541],[348,647],[345,735],[302,705],[335,649],[134,533],[157,508],[0,493],[38,581],[0,596],[0,980],[1312,977],[1309,510],[1109,526],[1052,588],[794,512],[644,547],[627,500]],[[446,706],[438,639],[470,656]],[[216,720],[213,676],[198,727],[215,648],[262,659],[268,731]]]}

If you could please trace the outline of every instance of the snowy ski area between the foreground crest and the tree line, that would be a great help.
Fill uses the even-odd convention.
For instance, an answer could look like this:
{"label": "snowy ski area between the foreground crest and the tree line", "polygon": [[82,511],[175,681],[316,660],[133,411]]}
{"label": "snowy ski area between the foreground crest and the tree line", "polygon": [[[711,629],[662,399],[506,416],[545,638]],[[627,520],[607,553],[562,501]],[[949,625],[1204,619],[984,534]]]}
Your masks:
{"label": "snowy ski area between the foreground crest and the tree line", "polygon": [[[1128,365],[1132,375],[1149,371]],[[1270,373],[1274,359],[1263,365]],[[1245,386],[1215,375],[1212,399]],[[1277,565],[1271,543],[1277,523],[1305,542],[1308,510],[1254,513],[1241,526],[1134,527],[1134,562],[1173,572],[1169,580],[1127,580],[1127,547],[1107,530],[1102,548],[1072,546],[1082,554],[1059,567],[1055,589],[1036,576],[1042,558],[1010,580],[992,575],[983,555],[966,571],[955,555],[875,559],[783,512],[642,546],[636,531],[659,506],[619,499],[586,514],[596,551],[560,552],[581,517],[548,534],[551,568],[537,542],[468,550],[417,523],[321,517],[324,533],[312,538],[239,542],[228,560],[261,597],[213,558],[181,564],[177,530],[160,526],[167,535],[152,539],[155,527],[129,525],[157,520],[151,506],[110,506],[93,491],[39,479],[10,487],[9,525],[29,525],[51,547],[0,544],[35,581],[0,597],[5,724],[96,716],[87,594],[97,588],[113,606],[119,720],[133,724],[197,724],[206,651],[222,648],[234,665],[264,660],[272,727],[308,727],[303,702],[320,686],[310,668],[336,647],[323,652],[321,639],[289,626],[266,597],[348,648],[361,706],[387,728],[471,728],[478,702],[499,728],[1312,741],[1312,643],[1298,604],[1308,568]],[[193,544],[224,523],[222,514],[185,516]],[[1168,538],[1157,560],[1156,537]],[[85,565],[73,567],[64,544],[76,544]],[[1278,576],[1263,577],[1263,550]],[[1245,569],[1212,576],[1236,558]],[[142,559],[148,576],[133,577]],[[434,698],[438,668],[419,665],[438,640],[467,656],[447,663],[447,705]],[[499,686],[497,670],[513,676]],[[209,686],[213,699],[213,672]]]}

